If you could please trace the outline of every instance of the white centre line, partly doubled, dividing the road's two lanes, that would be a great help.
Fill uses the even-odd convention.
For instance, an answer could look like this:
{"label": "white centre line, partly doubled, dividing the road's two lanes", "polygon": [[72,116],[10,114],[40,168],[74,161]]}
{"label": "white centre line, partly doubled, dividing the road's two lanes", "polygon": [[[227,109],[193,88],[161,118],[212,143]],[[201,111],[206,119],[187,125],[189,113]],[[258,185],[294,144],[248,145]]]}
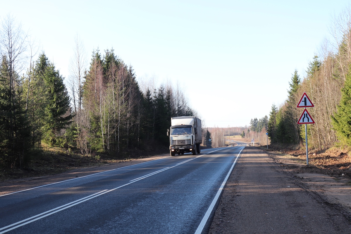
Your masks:
{"label": "white centre line, partly doubled, dividing the road's two lanes", "polygon": [[[206,153],[206,154],[210,154],[210,153],[212,153],[212,152],[216,152],[216,151],[219,151],[219,150],[221,150],[221,149],[223,149],[223,148],[217,149],[217,150],[215,150],[215,151],[208,152],[208,153]],[[241,151],[240,151],[240,152],[241,152]],[[200,156],[203,156],[203,155],[206,155],[206,154],[202,154],[202,155],[200,155]],[[240,153],[239,153],[239,154],[240,154]],[[198,157],[200,157],[200,156],[198,156]],[[198,158],[198,157],[197,157],[197,158]],[[6,233],[6,232],[8,232],[8,231],[10,231],[10,230],[13,230],[13,229],[16,229],[16,228],[18,228],[18,227],[24,226],[24,225],[26,225],[26,224],[28,224],[28,223],[31,223],[31,222],[37,221],[37,220],[39,220],[39,219],[45,218],[46,216],[55,214],[55,213],[57,213],[57,212],[59,212],[59,211],[61,211],[61,210],[64,210],[64,209],[67,209],[67,208],[69,208],[69,207],[78,205],[78,204],[80,204],[80,203],[82,203],[82,202],[85,202],[85,201],[88,201],[88,200],[90,200],[90,199],[96,198],[96,197],[98,197],[98,196],[100,196],[100,195],[103,195],[103,194],[105,194],[105,193],[112,192],[113,190],[116,190],[116,189],[119,189],[119,188],[121,188],[121,187],[130,185],[131,183],[137,182],[137,181],[139,181],[139,180],[143,180],[143,179],[145,179],[145,178],[147,178],[147,177],[149,177],[149,176],[152,176],[152,175],[158,174],[158,173],[160,173],[160,172],[166,171],[166,170],[168,170],[168,169],[171,169],[171,168],[173,168],[173,167],[179,166],[179,165],[181,165],[181,164],[183,164],[183,163],[186,163],[186,162],[191,161],[191,160],[194,160],[194,159],[196,159],[196,158],[193,158],[193,159],[190,159],[190,160],[186,160],[186,161],[181,162],[181,163],[178,163],[177,165],[174,165],[174,166],[172,166],[172,167],[167,167],[167,168],[161,169],[161,170],[159,170],[159,171],[157,171],[157,172],[153,172],[153,173],[147,174],[147,175],[145,175],[145,176],[143,176],[143,177],[139,177],[139,178],[137,178],[137,179],[135,179],[135,180],[133,180],[133,181],[130,181],[129,183],[126,183],[126,184],[124,184],[124,185],[121,185],[121,186],[119,186],[119,187],[117,187],[117,188],[113,188],[113,189],[110,189],[110,190],[107,190],[107,189],[106,189],[106,190],[102,190],[102,191],[100,191],[100,192],[98,192],[98,193],[92,194],[92,195],[90,195],[90,196],[86,196],[85,198],[81,198],[81,199],[78,199],[78,200],[76,200],[76,201],[69,202],[69,203],[67,203],[67,204],[65,204],[65,205],[62,205],[62,206],[59,206],[59,207],[57,207],[57,208],[48,210],[48,211],[43,212],[43,213],[41,213],[41,214],[34,215],[34,216],[30,217],[30,218],[21,220],[21,221],[19,221],[19,222],[13,223],[13,224],[8,225],[8,226],[6,226],[6,227],[2,227],[0,230],[4,230],[4,229],[6,229],[6,228],[8,228],[8,227],[14,226],[14,227],[12,227],[12,228],[9,228],[9,229],[7,229],[7,230],[4,230],[4,231],[0,232],[0,234]],[[112,171],[112,170],[111,170],[111,171]],[[97,173],[97,174],[98,174],[98,173]],[[51,212],[51,213],[49,213],[49,212]],[[42,215],[42,216],[41,216],[41,215]],[[38,216],[40,216],[40,217],[38,217]],[[38,217],[38,218],[36,218],[36,217]],[[35,218],[35,219],[33,219],[33,218]],[[29,220],[29,221],[28,221],[28,220]],[[26,222],[26,221],[27,221],[27,222]],[[20,223],[20,224],[19,224],[19,223]],[[19,224],[19,225],[17,225],[17,224]],[[17,226],[15,226],[15,225],[17,225]]]}

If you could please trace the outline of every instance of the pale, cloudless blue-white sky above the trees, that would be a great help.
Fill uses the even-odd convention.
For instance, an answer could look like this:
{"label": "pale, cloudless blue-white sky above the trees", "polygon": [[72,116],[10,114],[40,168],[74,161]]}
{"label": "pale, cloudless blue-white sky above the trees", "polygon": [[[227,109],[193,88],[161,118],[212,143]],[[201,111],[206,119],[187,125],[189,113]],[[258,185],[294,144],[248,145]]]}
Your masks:
{"label": "pale, cloudless blue-white sky above the trees", "polygon": [[78,34],[88,62],[113,47],[140,84],[178,82],[207,127],[236,127],[284,102],[349,2],[12,0],[0,18],[22,22],[66,78]]}

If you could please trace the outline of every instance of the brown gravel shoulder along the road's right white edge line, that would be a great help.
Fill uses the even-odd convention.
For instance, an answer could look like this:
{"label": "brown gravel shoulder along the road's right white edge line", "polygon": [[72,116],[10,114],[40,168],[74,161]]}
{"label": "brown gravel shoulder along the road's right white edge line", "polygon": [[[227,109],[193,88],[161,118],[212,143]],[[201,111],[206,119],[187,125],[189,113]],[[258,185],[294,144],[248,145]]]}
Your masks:
{"label": "brown gravel shoulder along the road's right white edge line", "polygon": [[347,179],[299,167],[302,161],[246,147],[209,233],[351,233]]}

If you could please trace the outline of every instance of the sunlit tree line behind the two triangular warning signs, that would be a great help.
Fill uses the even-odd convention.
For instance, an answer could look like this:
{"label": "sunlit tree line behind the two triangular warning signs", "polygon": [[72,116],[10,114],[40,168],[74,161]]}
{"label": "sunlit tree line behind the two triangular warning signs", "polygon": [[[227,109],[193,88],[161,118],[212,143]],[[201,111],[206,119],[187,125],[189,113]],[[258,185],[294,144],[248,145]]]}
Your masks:
{"label": "sunlit tree line behind the two triangular warning signs", "polygon": [[324,150],[335,145],[350,146],[351,136],[351,10],[335,16],[331,40],[325,40],[309,63],[303,79],[295,70],[289,82],[288,97],[272,105],[268,133],[274,144],[303,144],[304,126],[297,125],[302,108],[296,108],[302,94],[314,104],[308,108],[315,124],[307,125],[309,147]]}

